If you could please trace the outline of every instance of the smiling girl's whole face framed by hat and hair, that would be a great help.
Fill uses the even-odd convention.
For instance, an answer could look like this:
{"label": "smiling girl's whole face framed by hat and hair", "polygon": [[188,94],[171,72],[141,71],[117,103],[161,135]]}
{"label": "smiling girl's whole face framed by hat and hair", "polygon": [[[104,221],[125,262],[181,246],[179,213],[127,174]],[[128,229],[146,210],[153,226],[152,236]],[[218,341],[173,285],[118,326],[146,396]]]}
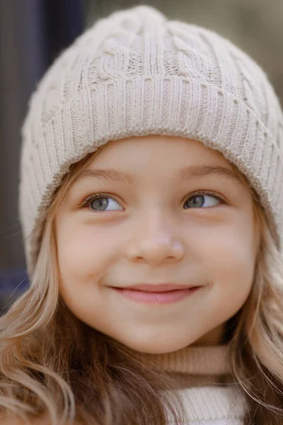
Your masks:
{"label": "smiling girl's whole face framed by hat and hair", "polygon": [[181,137],[108,142],[71,186],[56,236],[69,310],[144,353],[218,344],[258,251],[246,186],[219,152]]}

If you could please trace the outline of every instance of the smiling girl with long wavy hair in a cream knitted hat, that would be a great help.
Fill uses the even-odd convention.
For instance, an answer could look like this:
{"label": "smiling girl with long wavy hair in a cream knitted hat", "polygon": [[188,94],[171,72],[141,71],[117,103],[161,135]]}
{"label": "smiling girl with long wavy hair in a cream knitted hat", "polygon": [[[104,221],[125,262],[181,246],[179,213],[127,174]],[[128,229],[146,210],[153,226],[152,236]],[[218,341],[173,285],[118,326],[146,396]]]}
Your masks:
{"label": "smiling girl with long wavy hair in a cream knitted hat", "polygon": [[149,6],[81,35],[23,129],[1,423],[283,424],[282,144],[219,35]]}

